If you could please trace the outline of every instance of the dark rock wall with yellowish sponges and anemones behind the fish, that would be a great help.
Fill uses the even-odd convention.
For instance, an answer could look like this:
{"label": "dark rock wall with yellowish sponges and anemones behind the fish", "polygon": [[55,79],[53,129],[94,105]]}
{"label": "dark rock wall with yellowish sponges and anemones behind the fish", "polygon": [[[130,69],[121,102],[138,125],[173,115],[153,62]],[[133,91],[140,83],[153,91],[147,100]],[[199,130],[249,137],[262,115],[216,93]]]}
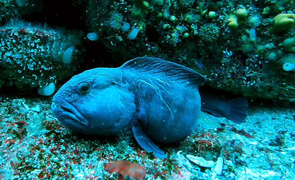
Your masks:
{"label": "dark rock wall with yellowish sponges and anemones behind the fish", "polygon": [[[9,2],[6,9],[14,5],[19,9],[13,13],[25,20],[34,20],[29,13],[38,14],[26,8],[31,7],[32,1],[26,1],[21,7],[15,1]],[[71,24],[61,15],[54,19],[55,11],[52,15],[44,14],[48,5],[38,1],[35,7],[41,9],[39,16],[44,17],[45,22],[60,26],[63,21],[71,30],[75,22],[79,22],[74,30],[82,30],[84,38],[74,38],[75,43],[84,46],[90,41],[87,34],[95,32],[97,39],[91,43],[105,47],[118,64],[138,56],[159,57],[205,75],[207,84],[216,89],[249,99],[295,101],[295,73],[283,69],[283,65],[295,64],[294,0],[62,0],[51,3],[59,3],[61,7],[68,4],[64,14],[67,17],[73,14],[73,18],[68,20]],[[72,11],[73,8],[79,12]],[[0,15],[3,26],[16,16]],[[130,28],[122,29],[123,23],[128,23]],[[128,34],[134,33],[132,29],[138,29],[138,33],[133,34],[135,39],[128,38]]]}

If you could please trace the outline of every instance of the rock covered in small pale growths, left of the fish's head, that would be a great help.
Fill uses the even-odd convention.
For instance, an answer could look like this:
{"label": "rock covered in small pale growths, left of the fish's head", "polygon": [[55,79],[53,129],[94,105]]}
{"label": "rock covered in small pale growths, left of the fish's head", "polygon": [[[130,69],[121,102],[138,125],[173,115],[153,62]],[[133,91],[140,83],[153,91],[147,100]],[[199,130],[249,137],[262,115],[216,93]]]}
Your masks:
{"label": "rock covered in small pale growths, left of the fish's head", "polygon": [[[72,75],[83,60],[75,39],[79,36],[19,20],[0,27],[0,86],[28,91]],[[64,64],[70,47],[72,61]]]}

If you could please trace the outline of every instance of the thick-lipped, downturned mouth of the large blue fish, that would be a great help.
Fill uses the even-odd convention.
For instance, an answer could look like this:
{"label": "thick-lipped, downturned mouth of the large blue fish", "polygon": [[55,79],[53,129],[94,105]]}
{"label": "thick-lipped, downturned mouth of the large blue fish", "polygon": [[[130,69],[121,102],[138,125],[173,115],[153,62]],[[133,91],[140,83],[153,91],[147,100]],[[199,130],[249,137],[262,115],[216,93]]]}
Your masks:
{"label": "thick-lipped, downturned mouth of the large blue fish", "polygon": [[70,103],[55,103],[52,102],[51,109],[54,115],[58,118],[60,122],[75,121],[84,126],[91,127],[92,123],[87,121],[82,114]]}

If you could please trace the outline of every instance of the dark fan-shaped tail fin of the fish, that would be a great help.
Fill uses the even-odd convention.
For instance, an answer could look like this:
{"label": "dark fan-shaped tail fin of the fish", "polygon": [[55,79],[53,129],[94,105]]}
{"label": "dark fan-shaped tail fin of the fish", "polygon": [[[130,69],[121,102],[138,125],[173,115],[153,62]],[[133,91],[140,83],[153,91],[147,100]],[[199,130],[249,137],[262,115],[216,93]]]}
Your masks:
{"label": "dark fan-shaped tail fin of the fish", "polygon": [[247,117],[248,101],[245,97],[239,97],[227,102],[224,117],[234,123],[243,123]]}

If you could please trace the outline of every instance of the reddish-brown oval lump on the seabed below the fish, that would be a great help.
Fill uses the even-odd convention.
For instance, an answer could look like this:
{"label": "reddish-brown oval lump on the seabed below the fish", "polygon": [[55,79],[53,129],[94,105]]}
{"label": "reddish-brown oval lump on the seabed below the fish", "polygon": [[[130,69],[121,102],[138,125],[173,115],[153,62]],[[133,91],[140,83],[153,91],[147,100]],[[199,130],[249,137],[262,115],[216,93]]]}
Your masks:
{"label": "reddish-brown oval lump on the seabed below the fish", "polygon": [[104,170],[109,173],[117,173],[137,180],[143,180],[146,177],[146,170],[139,164],[127,160],[118,160],[107,165]]}

